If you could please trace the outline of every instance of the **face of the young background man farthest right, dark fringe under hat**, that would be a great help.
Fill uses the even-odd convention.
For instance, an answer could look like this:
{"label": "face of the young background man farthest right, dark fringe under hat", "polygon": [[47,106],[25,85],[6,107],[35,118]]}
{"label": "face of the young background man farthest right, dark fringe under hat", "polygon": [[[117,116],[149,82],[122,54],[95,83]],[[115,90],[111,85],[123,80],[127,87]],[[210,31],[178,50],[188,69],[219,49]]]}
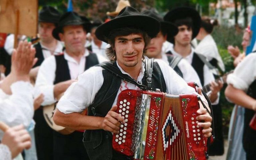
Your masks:
{"label": "face of the young background man farthest right, dark fringe under hat", "polygon": [[189,45],[191,40],[192,40],[192,28],[188,27],[186,25],[182,25],[178,27],[179,32],[178,34],[174,37],[175,45]]}

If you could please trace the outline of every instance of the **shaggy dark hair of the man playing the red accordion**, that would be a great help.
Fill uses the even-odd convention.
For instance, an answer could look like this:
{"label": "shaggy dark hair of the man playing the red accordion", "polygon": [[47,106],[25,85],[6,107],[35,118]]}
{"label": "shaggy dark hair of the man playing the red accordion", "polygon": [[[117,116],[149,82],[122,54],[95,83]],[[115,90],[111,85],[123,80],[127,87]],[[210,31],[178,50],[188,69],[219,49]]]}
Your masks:
{"label": "shaggy dark hair of the man playing the red accordion", "polygon": [[[143,49],[143,55],[146,52],[146,47],[150,43],[150,37],[145,31],[142,31],[141,29],[138,28],[133,28],[133,27],[124,27],[124,28],[117,28],[112,31],[110,31],[109,36],[107,37],[108,44],[110,44],[110,47],[106,49],[106,54],[110,60],[116,60],[116,51],[113,49],[115,46],[115,38],[117,36],[127,36],[133,33],[140,33],[142,34],[142,37],[144,39],[144,49]],[[144,59],[144,56],[143,56]]]}

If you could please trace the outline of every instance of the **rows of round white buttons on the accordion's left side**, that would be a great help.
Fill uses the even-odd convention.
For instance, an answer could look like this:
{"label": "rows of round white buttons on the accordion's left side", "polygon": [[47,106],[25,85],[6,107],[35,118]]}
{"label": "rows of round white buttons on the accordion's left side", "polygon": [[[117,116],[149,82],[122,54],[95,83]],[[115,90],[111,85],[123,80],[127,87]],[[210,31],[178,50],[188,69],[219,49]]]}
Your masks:
{"label": "rows of round white buttons on the accordion's left side", "polygon": [[128,117],[129,117],[129,109],[130,109],[130,102],[127,102],[126,99],[124,99],[123,101],[119,102],[119,114],[124,118],[125,123],[121,124],[120,129],[119,129],[119,133],[116,135],[115,141],[118,144],[122,144],[125,143],[125,138],[126,138],[126,130],[127,130],[127,122],[128,122]]}

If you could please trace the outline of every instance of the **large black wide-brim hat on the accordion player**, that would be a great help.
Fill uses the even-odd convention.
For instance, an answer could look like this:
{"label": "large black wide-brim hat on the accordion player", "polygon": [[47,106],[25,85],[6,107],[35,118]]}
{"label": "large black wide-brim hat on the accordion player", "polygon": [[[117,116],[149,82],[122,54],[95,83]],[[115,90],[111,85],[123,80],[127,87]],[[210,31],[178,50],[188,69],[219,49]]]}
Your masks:
{"label": "large black wide-brim hat on the accordion player", "polygon": [[149,37],[155,37],[159,30],[160,24],[155,18],[141,15],[135,8],[127,6],[112,20],[100,25],[96,31],[96,37],[108,43],[109,33],[117,28],[133,27],[145,31]]}

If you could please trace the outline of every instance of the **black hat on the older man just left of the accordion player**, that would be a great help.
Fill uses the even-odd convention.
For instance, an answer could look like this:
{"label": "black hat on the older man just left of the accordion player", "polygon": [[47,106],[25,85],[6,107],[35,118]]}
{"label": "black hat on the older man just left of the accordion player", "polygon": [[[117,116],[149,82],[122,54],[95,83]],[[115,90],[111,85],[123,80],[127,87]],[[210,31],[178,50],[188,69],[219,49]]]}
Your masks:
{"label": "black hat on the older man just left of the accordion player", "polygon": [[67,12],[60,17],[58,26],[52,31],[52,36],[60,40],[59,33],[62,32],[63,27],[70,25],[82,25],[86,32],[91,29],[91,23],[86,17],[79,16],[76,12]]}

